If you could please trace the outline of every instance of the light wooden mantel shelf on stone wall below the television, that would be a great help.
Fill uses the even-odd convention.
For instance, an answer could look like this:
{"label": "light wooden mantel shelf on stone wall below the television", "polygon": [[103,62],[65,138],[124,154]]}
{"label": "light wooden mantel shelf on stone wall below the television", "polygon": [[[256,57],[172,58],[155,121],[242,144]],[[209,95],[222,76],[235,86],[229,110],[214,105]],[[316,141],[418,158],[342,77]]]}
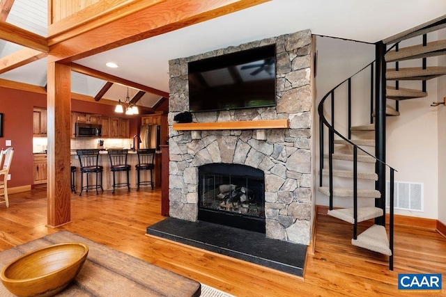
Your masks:
{"label": "light wooden mantel shelf on stone wall below the television", "polygon": [[281,120],[245,120],[237,122],[189,122],[174,124],[174,130],[247,130],[247,129],[287,129],[288,119]]}

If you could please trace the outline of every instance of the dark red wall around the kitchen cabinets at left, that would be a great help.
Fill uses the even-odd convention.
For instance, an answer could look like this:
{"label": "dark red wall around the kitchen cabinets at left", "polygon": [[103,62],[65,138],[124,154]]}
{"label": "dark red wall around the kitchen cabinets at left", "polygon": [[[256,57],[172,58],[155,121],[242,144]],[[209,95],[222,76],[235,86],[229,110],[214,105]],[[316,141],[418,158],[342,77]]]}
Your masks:
{"label": "dark red wall around the kitchen cabinets at left", "polygon": [[[33,184],[33,107],[47,106],[47,95],[0,87],[0,113],[3,113],[3,137],[0,148],[6,148],[6,140],[14,147],[11,163],[11,180],[8,187]],[[116,116],[114,106],[71,100],[72,111]],[[130,138],[137,134],[141,117],[119,116],[130,119]]]}

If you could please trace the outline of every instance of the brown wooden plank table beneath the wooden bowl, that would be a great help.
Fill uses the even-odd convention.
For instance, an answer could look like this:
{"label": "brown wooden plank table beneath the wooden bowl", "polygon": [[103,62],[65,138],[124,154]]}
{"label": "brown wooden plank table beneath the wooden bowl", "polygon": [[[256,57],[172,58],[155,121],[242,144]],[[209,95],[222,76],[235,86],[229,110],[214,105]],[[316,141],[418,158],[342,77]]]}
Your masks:
{"label": "brown wooden plank table beneath the wooden bowl", "polygon": [[[20,255],[54,243],[82,242],[89,255],[75,280],[57,296],[200,296],[201,285],[68,231],[0,252],[0,269]],[[0,282],[0,296],[14,296]]]}

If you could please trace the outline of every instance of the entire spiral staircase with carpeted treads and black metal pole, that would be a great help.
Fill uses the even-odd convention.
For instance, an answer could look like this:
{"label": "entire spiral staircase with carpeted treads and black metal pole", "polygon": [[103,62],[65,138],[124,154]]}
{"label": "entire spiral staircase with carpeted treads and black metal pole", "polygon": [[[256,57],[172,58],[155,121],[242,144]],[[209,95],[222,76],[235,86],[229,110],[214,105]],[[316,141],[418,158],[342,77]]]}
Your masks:
{"label": "entire spiral staircase with carpeted treads and black metal pole", "polygon": [[[385,163],[385,118],[400,115],[401,100],[426,97],[426,82],[446,74],[446,67],[426,66],[427,58],[446,54],[446,40],[427,42],[428,33],[443,28],[446,28],[446,16],[378,42],[376,61],[339,83],[323,97],[318,106],[321,164],[318,190],[330,198],[328,215],[353,224],[353,246],[389,256],[390,270],[393,270],[393,185],[396,170]],[[420,44],[400,49],[400,42],[409,39],[419,40]],[[406,61],[411,66],[415,61],[420,67],[403,67]],[[363,96],[367,97],[368,102],[360,106],[368,109],[370,118],[369,122],[354,126],[352,102],[364,97],[353,99],[352,83],[358,74],[367,71],[371,82],[369,90],[364,90]],[[408,80],[420,81],[420,89],[400,88],[400,83]],[[334,98],[335,94],[346,93],[345,86],[348,90],[348,127],[338,129],[335,124],[339,121],[335,120],[335,116],[339,109],[345,109],[345,105],[337,104],[339,100]],[[390,172],[388,225],[385,222],[386,197],[383,193],[386,172]],[[334,197],[337,198],[336,201],[350,201],[352,207],[336,207]],[[371,219],[374,220],[374,225],[357,234],[357,223]]]}

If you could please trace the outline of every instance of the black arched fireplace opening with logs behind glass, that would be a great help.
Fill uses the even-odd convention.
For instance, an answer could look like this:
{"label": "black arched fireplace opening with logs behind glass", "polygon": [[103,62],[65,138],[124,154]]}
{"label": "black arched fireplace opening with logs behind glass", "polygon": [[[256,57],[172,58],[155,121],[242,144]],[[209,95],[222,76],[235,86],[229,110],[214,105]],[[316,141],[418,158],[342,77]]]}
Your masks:
{"label": "black arched fireplace opening with logs behind glass", "polygon": [[198,219],[265,233],[265,175],[240,164],[199,167]]}

